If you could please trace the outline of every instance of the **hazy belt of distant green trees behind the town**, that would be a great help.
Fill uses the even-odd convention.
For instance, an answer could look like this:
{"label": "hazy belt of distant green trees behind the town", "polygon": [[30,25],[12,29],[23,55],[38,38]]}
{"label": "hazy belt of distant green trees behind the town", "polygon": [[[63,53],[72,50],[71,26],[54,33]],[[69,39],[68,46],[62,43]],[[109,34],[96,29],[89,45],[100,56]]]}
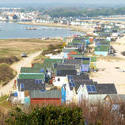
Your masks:
{"label": "hazy belt of distant green trees behind the town", "polygon": [[81,8],[56,8],[44,12],[52,17],[97,17],[97,16],[110,16],[110,15],[125,15],[125,8],[100,8],[100,9],[81,9]]}

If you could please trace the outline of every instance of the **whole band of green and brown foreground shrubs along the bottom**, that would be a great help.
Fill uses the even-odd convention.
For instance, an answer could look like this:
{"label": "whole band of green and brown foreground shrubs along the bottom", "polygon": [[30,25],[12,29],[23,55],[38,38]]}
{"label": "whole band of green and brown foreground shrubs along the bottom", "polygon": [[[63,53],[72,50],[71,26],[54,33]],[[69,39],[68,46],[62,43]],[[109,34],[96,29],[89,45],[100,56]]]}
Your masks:
{"label": "whole band of green and brown foreground shrubs along the bottom", "polygon": [[26,107],[25,112],[16,108],[0,121],[6,125],[125,125],[125,103],[119,106],[112,110],[111,105],[83,101],[79,106]]}

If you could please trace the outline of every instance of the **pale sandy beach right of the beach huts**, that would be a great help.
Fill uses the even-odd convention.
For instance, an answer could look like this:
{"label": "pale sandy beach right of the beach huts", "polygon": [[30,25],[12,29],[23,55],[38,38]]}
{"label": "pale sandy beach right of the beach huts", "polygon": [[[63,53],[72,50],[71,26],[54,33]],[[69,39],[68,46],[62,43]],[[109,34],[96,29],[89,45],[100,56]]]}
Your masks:
{"label": "pale sandy beach right of the beach huts", "polygon": [[119,94],[125,94],[125,56],[121,52],[125,51],[125,36],[112,43],[116,50],[114,59],[97,60],[99,71],[93,73],[91,78],[101,83],[114,83]]}

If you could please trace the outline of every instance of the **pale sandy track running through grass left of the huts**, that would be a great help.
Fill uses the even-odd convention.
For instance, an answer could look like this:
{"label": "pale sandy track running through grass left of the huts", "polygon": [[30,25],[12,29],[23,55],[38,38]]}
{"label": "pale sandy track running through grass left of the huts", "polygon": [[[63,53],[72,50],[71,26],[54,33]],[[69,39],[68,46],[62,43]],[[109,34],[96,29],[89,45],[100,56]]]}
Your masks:
{"label": "pale sandy track running through grass left of the huts", "polygon": [[[27,58],[24,58],[21,61],[19,61],[18,63],[14,63],[13,65],[11,65],[11,68],[13,68],[15,71],[17,71],[17,76],[18,76],[21,67],[24,67],[24,66],[31,67],[31,62],[33,61],[33,59],[35,57],[39,56],[40,53],[41,53],[41,51],[30,54]],[[13,90],[14,80],[17,79],[17,76],[13,80],[11,80],[7,85],[0,88],[0,97],[4,96],[4,95],[8,95]]]}

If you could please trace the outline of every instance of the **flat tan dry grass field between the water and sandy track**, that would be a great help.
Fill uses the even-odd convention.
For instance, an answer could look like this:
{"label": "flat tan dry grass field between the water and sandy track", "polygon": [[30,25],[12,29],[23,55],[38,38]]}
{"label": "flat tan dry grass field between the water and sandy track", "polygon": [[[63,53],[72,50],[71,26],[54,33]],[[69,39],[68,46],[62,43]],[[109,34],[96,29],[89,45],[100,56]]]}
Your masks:
{"label": "flat tan dry grass field between the water and sandy track", "polygon": [[0,57],[17,56],[22,52],[33,53],[46,49],[50,44],[58,44],[59,39],[41,40],[41,39],[7,39],[0,40]]}

